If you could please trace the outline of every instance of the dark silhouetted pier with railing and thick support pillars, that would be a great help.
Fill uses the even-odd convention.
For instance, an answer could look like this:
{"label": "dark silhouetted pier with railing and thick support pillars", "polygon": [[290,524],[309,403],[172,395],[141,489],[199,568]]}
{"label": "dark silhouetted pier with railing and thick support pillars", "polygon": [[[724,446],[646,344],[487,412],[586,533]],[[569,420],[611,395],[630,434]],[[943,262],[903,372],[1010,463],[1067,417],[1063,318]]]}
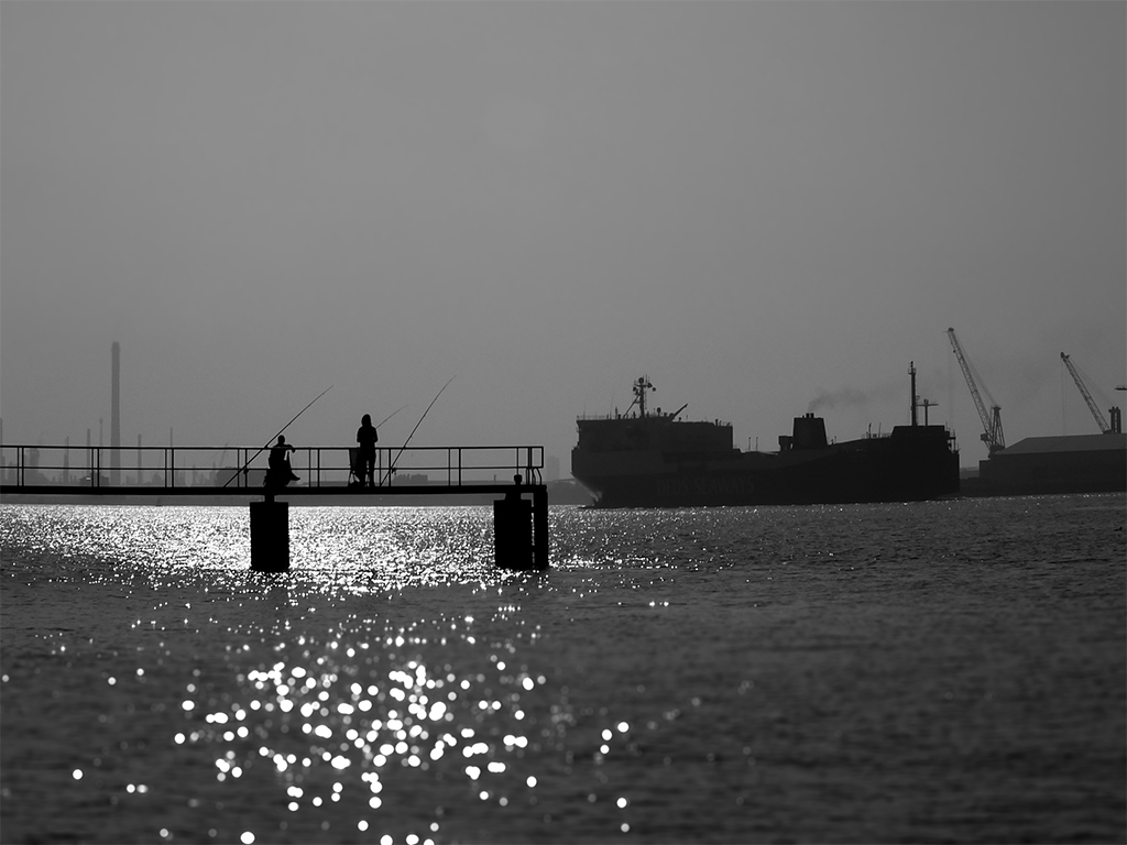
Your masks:
{"label": "dark silhouetted pier with railing and thick support pillars", "polygon": [[[412,446],[376,450],[374,484],[361,486],[355,448],[298,446],[299,481],[265,484],[269,448],[259,446],[0,445],[0,500],[109,504],[249,502],[250,568],[290,568],[292,501],[364,505],[494,499],[497,564],[548,568],[548,488],[542,446]],[[518,481],[518,483],[517,483]]]}

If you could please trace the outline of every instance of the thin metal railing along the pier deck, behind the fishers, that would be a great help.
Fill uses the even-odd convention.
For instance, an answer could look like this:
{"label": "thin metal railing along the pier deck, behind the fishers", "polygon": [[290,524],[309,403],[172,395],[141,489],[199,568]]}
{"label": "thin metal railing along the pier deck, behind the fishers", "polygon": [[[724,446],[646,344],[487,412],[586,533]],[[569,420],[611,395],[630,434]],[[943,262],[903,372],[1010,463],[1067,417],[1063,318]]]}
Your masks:
{"label": "thin metal railing along the pier deck, behind the fishers", "polygon": [[[348,446],[299,446],[290,463],[300,480],[287,490],[338,487],[352,473]],[[184,488],[259,492],[268,465],[259,446],[27,446],[0,445],[5,488]],[[375,452],[376,488],[507,483],[521,474],[539,482],[543,446],[384,446]]]}

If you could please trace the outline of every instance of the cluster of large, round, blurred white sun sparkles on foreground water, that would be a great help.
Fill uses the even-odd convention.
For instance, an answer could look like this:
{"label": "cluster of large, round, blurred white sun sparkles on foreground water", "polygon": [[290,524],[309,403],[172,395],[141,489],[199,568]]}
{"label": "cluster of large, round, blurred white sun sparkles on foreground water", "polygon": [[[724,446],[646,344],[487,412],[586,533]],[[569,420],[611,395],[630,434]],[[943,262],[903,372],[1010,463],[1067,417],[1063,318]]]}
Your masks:
{"label": "cluster of large, round, blurred white sun sparkles on foreground water", "polygon": [[[181,710],[195,727],[174,741],[212,749],[220,781],[267,762],[292,818],[331,818],[322,813],[339,803],[361,817],[356,829],[396,829],[394,842],[407,840],[394,827],[397,807],[411,802],[420,777],[455,793],[461,779],[474,785],[478,801],[498,808],[535,806],[540,780],[529,773],[527,755],[565,747],[576,723],[567,696],[542,696],[547,677],[520,660],[516,640],[494,643],[504,658],[490,653],[473,668],[465,659],[427,664],[419,647],[428,638],[419,629],[360,634],[374,624],[354,620],[322,643],[308,635],[275,643],[277,659],[239,673],[238,697],[187,690]],[[473,624],[458,619],[438,628],[447,647],[458,643],[464,655]],[[232,735],[234,724],[245,732]],[[629,731],[622,720],[604,724],[602,756]],[[419,833],[440,834],[442,826],[440,813]]]}

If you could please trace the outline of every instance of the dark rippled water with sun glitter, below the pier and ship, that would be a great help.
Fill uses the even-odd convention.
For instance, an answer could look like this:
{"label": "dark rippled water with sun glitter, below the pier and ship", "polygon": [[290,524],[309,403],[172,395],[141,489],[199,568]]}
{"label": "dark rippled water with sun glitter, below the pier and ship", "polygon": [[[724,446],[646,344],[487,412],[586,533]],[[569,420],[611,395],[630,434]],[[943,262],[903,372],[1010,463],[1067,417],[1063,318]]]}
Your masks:
{"label": "dark rippled water with sun glitter, below the pier and ship", "polygon": [[1122,496],[0,506],[3,842],[1122,842]]}

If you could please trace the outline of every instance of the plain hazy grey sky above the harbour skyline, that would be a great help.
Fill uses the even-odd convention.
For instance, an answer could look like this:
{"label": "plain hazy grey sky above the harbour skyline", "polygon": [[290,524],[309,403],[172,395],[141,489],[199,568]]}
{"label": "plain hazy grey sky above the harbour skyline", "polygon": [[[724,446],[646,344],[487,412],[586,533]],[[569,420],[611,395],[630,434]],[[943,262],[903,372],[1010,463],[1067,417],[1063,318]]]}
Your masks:
{"label": "plain hazy grey sky above the harbour skyline", "polygon": [[986,457],[1127,381],[1121,2],[0,3],[8,444],[542,445],[651,407]]}

